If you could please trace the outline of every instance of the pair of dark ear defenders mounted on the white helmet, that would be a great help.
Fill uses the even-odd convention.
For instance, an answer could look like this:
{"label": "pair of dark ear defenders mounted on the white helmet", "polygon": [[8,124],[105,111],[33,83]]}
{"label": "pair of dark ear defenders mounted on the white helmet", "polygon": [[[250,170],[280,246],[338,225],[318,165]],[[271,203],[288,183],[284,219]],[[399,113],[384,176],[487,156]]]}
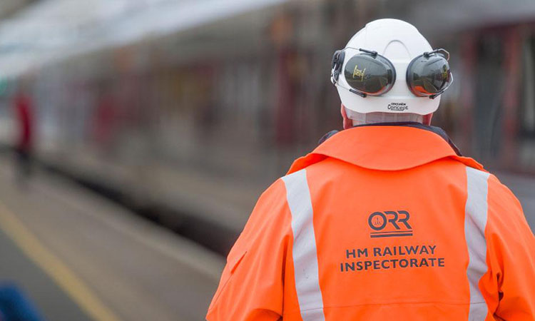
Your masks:
{"label": "pair of dark ear defenders mounted on the white helmet", "polygon": [[[344,65],[346,55],[353,54]],[[449,53],[444,49],[424,52],[407,66],[406,81],[414,96],[436,98],[452,84]],[[343,67],[343,73],[342,73]],[[396,81],[396,68],[388,58],[377,51],[347,47],[332,56],[331,82],[342,86],[338,79],[345,77],[346,88],[359,96],[380,96],[387,93]]]}

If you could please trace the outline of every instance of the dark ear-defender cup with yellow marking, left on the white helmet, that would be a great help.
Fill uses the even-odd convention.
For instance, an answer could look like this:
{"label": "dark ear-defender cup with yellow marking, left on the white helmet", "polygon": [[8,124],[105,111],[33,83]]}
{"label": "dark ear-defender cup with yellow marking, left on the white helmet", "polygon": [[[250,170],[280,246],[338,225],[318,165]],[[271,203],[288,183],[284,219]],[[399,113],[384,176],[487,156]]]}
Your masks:
{"label": "dark ear-defender cup with yellow marking, left on the white helmet", "polygon": [[347,83],[360,93],[379,96],[392,88],[395,69],[382,56],[357,54],[345,64],[344,76]]}

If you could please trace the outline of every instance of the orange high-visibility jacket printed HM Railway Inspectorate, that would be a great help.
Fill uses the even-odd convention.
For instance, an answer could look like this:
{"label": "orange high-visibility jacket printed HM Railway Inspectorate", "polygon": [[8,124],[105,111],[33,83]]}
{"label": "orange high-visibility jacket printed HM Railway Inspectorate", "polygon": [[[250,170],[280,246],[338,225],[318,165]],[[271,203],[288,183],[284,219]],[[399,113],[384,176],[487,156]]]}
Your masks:
{"label": "orange high-visibility jacket printed HM Railway Inspectorate", "polygon": [[535,320],[519,201],[422,128],[355,127],[297,159],[230,250],[207,320]]}

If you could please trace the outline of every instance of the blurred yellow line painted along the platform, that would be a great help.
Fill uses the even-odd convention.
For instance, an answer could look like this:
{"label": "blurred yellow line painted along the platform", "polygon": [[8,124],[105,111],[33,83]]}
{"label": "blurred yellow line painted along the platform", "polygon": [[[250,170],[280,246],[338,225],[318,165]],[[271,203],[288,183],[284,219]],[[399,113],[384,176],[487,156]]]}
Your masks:
{"label": "blurred yellow line painted along the platform", "polygon": [[119,318],[0,201],[0,229],[94,320]]}

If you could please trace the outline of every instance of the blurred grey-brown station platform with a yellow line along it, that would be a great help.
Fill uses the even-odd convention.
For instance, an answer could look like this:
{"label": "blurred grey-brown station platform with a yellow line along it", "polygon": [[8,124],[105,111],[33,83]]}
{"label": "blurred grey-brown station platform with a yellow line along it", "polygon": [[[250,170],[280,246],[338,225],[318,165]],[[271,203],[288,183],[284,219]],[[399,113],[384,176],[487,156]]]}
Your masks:
{"label": "blurred grey-brown station platform with a yellow line along it", "polygon": [[203,320],[224,258],[91,190],[0,158],[0,281],[46,320]]}

